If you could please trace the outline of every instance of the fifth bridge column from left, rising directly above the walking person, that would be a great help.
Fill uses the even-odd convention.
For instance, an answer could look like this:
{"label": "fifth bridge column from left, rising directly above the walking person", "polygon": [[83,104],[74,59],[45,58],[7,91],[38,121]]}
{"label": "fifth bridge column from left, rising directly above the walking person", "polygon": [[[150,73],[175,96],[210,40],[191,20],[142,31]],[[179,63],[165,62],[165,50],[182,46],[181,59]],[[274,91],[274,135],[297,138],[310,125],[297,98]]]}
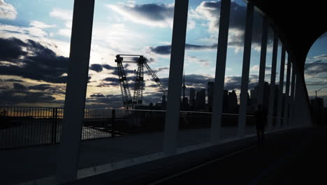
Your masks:
{"label": "fifth bridge column from left, rising directly above the walking person", "polygon": [[268,21],[266,17],[263,17],[260,70],[259,70],[259,90],[258,90],[258,104],[261,105],[263,105],[263,85],[265,82],[265,71],[266,71],[267,38],[268,38]]}

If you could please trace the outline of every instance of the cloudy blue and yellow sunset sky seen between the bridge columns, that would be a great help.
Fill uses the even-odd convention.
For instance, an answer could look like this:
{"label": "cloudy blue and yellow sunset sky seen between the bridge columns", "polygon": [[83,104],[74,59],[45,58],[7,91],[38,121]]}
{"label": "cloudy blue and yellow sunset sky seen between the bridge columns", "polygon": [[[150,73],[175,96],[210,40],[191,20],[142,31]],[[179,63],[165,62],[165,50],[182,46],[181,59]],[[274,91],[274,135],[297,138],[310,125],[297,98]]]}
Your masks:
{"label": "cloudy blue and yellow sunset sky seen between the bridge columns", "polygon": [[[87,84],[87,107],[122,107],[115,55],[144,55],[168,85],[174,1],[97,0]],[[206,88],[215,78],[220,1],[189,1],[184,57],[186,95]],[[240,93],[246,4],[232,1],[225,89]],[[0,0],[0,106],[63,107],[69,57],[73,1]],[[262,17],[254,13],[249,89],[258,82]],[[326,35],[326,34],[324,34]],[[309,95],[327,85],[327,36],[307,55]],[[273,30],[268,31],[266,78],[270,82]],[[279,42],[276,82],[279,81]],[[286,55],[287,59],[287,55]],[[124,66],[133,84],[136,64]],[[285,69],[286,71],[286,69]],[[286,74],[285,74],[286,76]],[[162,93],[145,73],[144,102],[156,103]],[[327,88],[319,91],[327,104]]]}

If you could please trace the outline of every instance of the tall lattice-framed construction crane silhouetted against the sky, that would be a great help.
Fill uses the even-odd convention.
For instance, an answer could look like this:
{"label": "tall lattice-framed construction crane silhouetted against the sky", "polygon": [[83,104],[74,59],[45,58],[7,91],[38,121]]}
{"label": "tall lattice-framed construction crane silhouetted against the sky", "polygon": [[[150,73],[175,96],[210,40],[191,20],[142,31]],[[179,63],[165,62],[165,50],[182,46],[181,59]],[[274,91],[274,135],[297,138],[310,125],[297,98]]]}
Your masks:
{"label": "tall lattice-framed construction crane silhouetted against the sky", "polygon": [[[147,58],[143,57],[143,55],[116,55],[115,62],[117,62],[120,90],[122,91],[122,100],[125,109],[134,109],[143,103],[143,90],[145,88],[144,67],[157,83],[163,95],[167,96],[167,88],[161,83],[160,78],[151,69],[149,64],[147,64]],[[135,63],[138,65],[138,69],[135,70],[133,97],[129,90],[128,78],[122,63]]]}

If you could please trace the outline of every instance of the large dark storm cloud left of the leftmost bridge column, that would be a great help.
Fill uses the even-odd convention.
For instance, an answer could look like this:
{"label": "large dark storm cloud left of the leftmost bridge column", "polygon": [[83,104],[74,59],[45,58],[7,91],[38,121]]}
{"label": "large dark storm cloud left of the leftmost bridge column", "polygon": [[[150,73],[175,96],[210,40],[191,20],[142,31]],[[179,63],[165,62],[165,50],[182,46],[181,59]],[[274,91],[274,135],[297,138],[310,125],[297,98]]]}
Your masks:
{"label": "large dark storm cloud left of the leftmost bridge column", "polygon": [[[67,57],[57,56],[49,48],[32,40],[27,40],[25,43],[15,38],[0,39],[0,46],[10,46],[1,47],[1,60],[10,64],[0,62],[0,74],[50,83],[66,83],[67,76],[63,75],[67,73]],[[27,55],[23,48],[32,55]]]}

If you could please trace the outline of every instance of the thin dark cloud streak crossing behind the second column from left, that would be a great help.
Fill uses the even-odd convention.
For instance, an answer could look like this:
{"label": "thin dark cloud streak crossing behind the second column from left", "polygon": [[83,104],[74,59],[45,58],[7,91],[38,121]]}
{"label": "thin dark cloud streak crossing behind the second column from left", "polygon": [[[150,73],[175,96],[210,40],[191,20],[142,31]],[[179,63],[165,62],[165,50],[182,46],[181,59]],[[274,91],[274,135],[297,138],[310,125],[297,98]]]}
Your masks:
{"label": "thin dark cloud streak crossing behind the second column from left", "polygon": [[[211,46],[195,45],[189,43],[185,44],[185,50],[207,50],[207,49],[216,49],[216,48],[217,48],[217,44]],[[154,47],[150,47],[150,50],[153,53],[157,53],[159,55],[170,55],[171,45],[154,46]]]}

